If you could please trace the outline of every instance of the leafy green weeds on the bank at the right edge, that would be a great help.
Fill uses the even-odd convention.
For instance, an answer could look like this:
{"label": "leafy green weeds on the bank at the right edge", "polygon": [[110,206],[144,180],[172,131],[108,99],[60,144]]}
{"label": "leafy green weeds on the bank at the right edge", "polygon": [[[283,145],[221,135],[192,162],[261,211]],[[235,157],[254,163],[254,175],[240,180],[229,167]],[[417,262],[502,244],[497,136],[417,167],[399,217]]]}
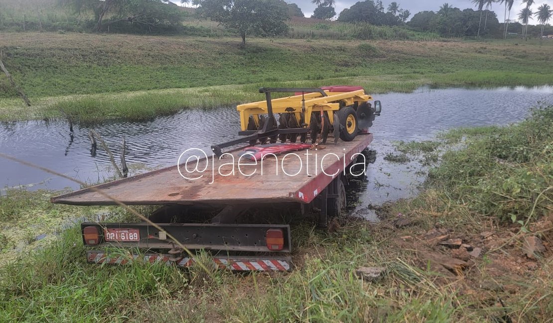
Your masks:
{"label": "leafy green weeds on the bank at the right edge", "polygon": [[[458,141],[462,131],[445,134]],[[465,147],[450,150],[429,174],[453,202],[474,214],[525,223],[553,211],[553,106],[528,119],[466,135]]]}

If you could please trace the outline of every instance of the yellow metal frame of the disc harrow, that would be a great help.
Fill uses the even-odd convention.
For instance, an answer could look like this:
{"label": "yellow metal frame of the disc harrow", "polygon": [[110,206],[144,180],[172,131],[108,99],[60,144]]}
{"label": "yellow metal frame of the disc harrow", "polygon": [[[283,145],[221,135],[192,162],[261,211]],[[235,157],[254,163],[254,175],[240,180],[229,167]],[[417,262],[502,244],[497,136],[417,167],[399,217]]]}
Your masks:
{"label": "yellow metal frame of the disc harrow", "polygon": [[[356,90],[351,92],[330,92],[325,91],[327,96],[322,96],[320,93],[305,93],[302,95],[286,96],[285,98],[272,99],[271,105],[274,114],[293,113],[296,120],[301,117],[301,99],[305,98],[305,123],[309,127],[311,121],[311,113],[316,111],[338,111],[340,110],[340,102],[343,106],[352,105],[356,102],[366,102],[372,100],[372,96],[365,94],[364,90]],[[291,109],[293,110],[291,110]],[[259,127],[258,115],[267,114],[267,101],[257,101],[252,103],[241,104],[236,107],[240,113],[240,127],[242,131],[247,130],[249,116],[254,116],[255,126]],[[289,111],[286,111],[286,110]],[[290,111],[291,110],[291,111]],[[334,115],[328,114],[330,123],[334,122]]]}

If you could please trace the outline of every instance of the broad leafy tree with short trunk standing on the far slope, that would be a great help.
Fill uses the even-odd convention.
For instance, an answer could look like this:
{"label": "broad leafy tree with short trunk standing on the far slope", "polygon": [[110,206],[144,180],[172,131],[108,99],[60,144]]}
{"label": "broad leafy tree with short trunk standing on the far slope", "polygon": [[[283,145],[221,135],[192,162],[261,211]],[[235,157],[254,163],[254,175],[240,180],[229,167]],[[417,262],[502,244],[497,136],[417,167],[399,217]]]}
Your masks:
{"label": "broad leafy tree with short trunk standing on the far slope", "polygon": [[197,14],[236,29],[246,46],[246,35],[280,35],[288,31],[288,6],[281,0],[196,0]]}

